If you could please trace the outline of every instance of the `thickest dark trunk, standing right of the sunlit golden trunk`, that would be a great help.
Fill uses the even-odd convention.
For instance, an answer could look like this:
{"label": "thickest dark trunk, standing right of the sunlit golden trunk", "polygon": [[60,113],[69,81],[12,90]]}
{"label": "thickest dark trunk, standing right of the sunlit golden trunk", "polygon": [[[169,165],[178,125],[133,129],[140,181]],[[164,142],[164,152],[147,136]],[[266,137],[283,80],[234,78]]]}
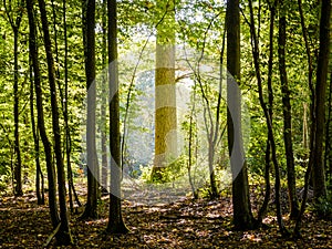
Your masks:
{"label": "thickest dark trunk, standing right of the sunlit golden trunk", "polygon": [[[228,103],[228,146],[232,169],[232,205],[234,225],[236,229],[250,229],[253,217],[249,198],[249,183],[247,163],[243,162],[245,152],[241,131],[241,95],[239,87],[232,83],[240,83],[240,15],[239,0],[227,1],[227,103]],[[234,79],[232,79],[234,77]],[[236,155],[234,155],[236,154]]]}

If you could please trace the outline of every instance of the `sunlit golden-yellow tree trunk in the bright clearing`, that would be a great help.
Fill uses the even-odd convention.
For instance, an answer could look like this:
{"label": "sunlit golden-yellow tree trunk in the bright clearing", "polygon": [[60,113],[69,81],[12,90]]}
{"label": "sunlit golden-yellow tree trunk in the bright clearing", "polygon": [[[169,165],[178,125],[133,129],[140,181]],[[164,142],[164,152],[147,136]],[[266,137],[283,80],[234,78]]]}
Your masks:
{"label": "sunlit golden-yellow tree trunk in the bright clearing", "polygon": [[175,2],[157,1],[162,20],[157,25],[155,72],[155,160],[152,178],[163,180],[163,169],[176,157]]}

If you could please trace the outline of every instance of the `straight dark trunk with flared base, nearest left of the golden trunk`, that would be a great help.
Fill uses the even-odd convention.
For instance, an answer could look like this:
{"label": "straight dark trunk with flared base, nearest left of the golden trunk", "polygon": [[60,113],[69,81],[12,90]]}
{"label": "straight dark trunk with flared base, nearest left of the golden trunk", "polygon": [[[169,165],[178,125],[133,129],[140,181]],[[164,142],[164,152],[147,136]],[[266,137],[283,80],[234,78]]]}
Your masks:
{"label": "straight dark trunk with flared base, nearest left of the golden trunk", "polygon": [[128,232],[122,217],[121,207],[121,145],[118,107],[118,69],[117,69],[117,18],[116,0],[107,0],[108,24],[108,84],[110,84],[110,151],[111,151],[111,193],[107,231],[111,234]]}

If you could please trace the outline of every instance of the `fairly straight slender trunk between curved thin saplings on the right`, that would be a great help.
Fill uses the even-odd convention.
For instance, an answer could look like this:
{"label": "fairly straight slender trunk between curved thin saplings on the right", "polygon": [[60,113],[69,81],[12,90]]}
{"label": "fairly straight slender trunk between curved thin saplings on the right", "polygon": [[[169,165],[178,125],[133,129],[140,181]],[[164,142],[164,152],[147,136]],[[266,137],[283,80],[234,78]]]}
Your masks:
{"label": "fairly straight slender trunk between curved thin saplings on the right", "polygon": [[290,204],[290,217],[292,219],[297,218],[299,215],[299,201],[297,197],[295,188],[295,166],[294,166],[294,155],[293,155],[293,142],[292,142],[292,114],[291,114],[291,103],[290,103],[290,90],[287,79],[286,69],[286,6],[283,0],[280,0],[280,17],[279,17],[279,72],[281,82],[281,93],[282,93],[282,105],[283,105],[283,142],[286,149],[287,159],[287,181],[288,181],[288,194]]}

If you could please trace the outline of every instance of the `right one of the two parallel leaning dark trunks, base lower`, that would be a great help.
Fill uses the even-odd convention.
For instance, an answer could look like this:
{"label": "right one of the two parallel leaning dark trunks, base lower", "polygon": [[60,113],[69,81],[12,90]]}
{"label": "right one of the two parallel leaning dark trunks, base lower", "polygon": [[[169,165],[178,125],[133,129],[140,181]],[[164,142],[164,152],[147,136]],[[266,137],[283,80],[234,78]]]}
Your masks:
{"label": "right one of the two parallel leaning dark trunks, base lower", "polygon": [[61,226],[59,231],[55,235],[55,238],[59,245],[71,245],[73,241],[69,228],[69,217],[66,210],[65,174],[64,174],[64,165],[63,165],[62,149],[61,149],[61,131],[59,125],[54,60],[52,54],[52,44],[50,39],[49,22],[48,22],[44,0],[39,0],[39,8],[41,13],[42,29],[44,34],[44,48],[45,48],[46,60],[48,60],[48,74],[49,74],[49,85],[51,92],[51,107],[52,107],[52,128],[54,135],[54,154],[56,159],[56,172],[58,172],[58,187],[59,187],[58,191],[59,191]]}

